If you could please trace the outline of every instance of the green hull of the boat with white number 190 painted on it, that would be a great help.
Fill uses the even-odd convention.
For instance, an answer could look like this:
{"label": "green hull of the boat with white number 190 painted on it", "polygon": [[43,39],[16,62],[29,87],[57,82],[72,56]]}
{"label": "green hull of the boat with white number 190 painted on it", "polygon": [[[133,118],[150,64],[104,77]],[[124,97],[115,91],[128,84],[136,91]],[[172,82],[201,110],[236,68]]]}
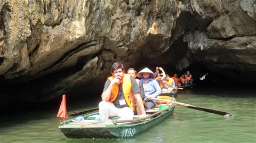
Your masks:
{"label": "green hull of the boat with white number 190 painted on it", "polygon": [[172,115],[174,107],[160,115],[136,122],[99,122],[90,124],[64,124],[59,129],[67,138],[131,138],[149,130]]}

